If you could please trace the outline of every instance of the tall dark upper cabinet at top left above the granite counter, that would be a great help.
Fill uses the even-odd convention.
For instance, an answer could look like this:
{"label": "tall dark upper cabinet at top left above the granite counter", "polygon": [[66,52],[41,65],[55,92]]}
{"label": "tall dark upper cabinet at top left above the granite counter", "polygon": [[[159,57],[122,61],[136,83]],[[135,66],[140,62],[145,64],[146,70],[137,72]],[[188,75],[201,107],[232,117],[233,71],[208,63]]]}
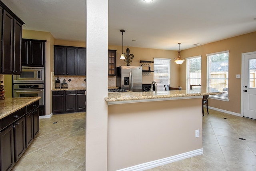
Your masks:
{"label": "tall dark upper cabinet at top left above the granite counter", "polygon": [[20,74],[24,22],[0,1],[0,24],[0,74]]}

